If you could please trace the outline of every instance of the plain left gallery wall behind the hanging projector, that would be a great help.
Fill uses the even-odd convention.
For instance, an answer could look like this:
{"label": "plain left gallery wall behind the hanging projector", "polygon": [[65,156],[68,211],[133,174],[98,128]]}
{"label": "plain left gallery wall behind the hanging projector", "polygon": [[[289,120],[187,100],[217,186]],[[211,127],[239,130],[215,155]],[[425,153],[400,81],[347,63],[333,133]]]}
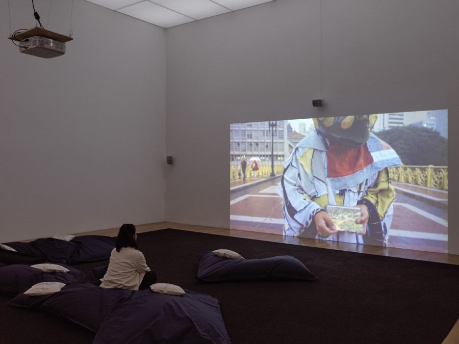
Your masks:
{"label": "plain left gallery wall behind the hanging projector", "polygon": [[42,24],[74,39],[43,59],[7,39],[36,25],[32,2],[0,2],[0,242],[163,221],[165,30],[50,4]]}

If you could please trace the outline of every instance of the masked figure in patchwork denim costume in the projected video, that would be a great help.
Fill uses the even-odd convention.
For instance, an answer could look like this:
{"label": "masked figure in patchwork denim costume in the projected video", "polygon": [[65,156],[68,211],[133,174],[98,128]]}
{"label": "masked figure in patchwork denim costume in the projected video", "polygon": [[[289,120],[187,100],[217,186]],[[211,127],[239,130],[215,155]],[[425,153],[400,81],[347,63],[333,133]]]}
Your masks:
{"label": "masked figure in patchwork denim costume in the projected video", "polygon": [[[388,167],[397,153],[370,131],[377,115],[314,119],[316,130],[297,144],[277,188],[285,235],[384,246],[395,190]],[[360,207],[363,233],[338,231],[326,205]]]}

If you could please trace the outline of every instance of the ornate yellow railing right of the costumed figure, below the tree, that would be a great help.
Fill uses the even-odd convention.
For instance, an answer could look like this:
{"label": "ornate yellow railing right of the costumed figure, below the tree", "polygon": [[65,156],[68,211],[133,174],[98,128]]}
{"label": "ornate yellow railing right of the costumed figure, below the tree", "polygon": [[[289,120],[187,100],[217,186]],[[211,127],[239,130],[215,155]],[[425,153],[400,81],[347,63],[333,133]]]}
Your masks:
{"label": "ornate yellow railing right of the costumed figure, below the tree", "polygon": [[394,181],[416,184],[427,188],[448,190],[447,166],[405,166],[390,167],[389,173]]}

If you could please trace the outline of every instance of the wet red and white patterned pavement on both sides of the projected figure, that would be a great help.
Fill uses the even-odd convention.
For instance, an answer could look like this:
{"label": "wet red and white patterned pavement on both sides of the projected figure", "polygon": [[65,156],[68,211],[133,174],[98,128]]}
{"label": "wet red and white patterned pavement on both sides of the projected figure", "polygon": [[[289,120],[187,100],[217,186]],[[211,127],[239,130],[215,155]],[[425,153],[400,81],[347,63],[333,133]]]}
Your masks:
{"label": "wet red and white patterned pavement on both sides of the projected figure", "polygon": [[[230,182],[230,228],[282,234],[276,189],[282,174]],[[448,192],[392,182],[396,190],[388,247],[448,252]]]}

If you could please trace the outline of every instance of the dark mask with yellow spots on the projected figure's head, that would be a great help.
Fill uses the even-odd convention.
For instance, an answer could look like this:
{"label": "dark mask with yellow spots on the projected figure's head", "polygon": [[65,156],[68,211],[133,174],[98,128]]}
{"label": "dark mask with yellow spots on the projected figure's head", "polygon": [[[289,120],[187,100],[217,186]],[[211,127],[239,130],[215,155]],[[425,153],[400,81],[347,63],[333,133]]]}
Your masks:
{"label": "dark mask with yellow spots on the projected figure's head", "polygon": [[317,132],[346,146],[358,147],[367,142],[378,115],[313,118]]}

